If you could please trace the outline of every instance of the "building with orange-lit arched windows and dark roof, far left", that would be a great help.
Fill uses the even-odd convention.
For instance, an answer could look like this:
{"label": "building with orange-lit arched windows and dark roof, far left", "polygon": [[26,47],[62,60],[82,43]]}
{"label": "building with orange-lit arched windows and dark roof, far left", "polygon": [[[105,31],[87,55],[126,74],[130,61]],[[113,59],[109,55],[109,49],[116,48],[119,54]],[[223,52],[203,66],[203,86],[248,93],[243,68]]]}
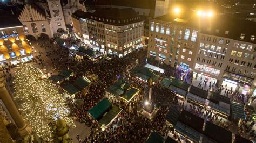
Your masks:
{"label": "building with orange-lit arched windows and dark roof, far left", "polygon": [[0,17],[0,62],[16,65],[18,62],[30,61],[31,48],[26,40],[22,23],[8,12]]}

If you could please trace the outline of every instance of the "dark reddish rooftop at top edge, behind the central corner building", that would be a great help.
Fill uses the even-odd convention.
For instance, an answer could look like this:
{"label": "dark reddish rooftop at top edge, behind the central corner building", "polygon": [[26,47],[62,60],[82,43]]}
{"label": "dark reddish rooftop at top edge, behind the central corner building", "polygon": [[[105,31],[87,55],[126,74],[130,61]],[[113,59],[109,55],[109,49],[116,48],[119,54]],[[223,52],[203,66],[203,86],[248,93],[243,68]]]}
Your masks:
{"label": "dark reddish rooftop at top edge, behind the central corner building", "polygon": [[117,5],[131,8],[155,9],[156,0],[98,0],[96,5]]}

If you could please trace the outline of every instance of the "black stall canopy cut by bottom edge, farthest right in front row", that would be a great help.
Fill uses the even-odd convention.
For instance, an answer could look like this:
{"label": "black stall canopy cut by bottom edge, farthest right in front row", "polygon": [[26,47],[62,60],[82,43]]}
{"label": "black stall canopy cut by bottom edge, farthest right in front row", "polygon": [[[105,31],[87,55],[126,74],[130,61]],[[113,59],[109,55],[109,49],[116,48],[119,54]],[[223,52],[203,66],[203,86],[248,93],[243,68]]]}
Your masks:
{"label": "black stall canopy cut by bottom edge, farthest right in front row", "polygon": [[220,126],[215,125],[210,121],[206,122],[204,134],[217,142],[232,142],[232,133],[230,131],[227,131]]}

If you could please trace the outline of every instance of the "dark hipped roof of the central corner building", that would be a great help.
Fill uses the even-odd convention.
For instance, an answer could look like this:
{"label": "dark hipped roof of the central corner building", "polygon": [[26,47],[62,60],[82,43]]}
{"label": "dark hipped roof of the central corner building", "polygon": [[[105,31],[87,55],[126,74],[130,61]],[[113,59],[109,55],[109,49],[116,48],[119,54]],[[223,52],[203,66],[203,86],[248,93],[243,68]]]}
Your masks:
{"label": "dark hipped roof of the central corner building", "polygon": [[126,25],[130,23],[135,23],[142,21],[143,18],[138,15],[136,11],[132,8],[104,8],[96,9],[95,12],[83,12],[82,10],[77,10],[72,14],[72,17],[78,18],[88,18],[99,22],[103,22],[111,25]]}

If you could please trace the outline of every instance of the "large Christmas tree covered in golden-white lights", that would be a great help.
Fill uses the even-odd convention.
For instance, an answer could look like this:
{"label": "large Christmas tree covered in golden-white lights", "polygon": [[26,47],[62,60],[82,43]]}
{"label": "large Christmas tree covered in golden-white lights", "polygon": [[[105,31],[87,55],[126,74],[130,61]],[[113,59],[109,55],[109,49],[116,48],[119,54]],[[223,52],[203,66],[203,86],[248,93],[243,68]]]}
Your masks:
{"label": "large Christmas tree covered in golden-white lights", "polygon": [[39,69],[21,63],[14,79],[15,99],[21,105],[19,110],[43,140],[52,141],[52,119],[60,117],[75,127],[63,94],[53,87],[50,80],[42,78]]}

